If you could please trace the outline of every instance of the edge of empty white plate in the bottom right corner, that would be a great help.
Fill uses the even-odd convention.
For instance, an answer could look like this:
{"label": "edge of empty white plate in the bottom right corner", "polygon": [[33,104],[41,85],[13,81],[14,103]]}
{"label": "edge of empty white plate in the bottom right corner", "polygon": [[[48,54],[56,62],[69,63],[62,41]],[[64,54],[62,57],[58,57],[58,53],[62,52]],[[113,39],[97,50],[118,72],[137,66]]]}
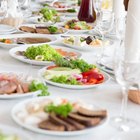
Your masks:
{"label": "edge of empty white plate in the bottom right corner", "polygon": [[140,140],[140,130],[120,133],[111,140]]}

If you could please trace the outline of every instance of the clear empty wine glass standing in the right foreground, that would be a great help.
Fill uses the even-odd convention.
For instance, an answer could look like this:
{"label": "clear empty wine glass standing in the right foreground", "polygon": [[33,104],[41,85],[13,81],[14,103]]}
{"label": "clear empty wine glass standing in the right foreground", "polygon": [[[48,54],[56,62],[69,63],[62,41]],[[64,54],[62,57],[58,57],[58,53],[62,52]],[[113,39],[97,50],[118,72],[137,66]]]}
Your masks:
{"label": "clear empty wine glass standing in the right foreground", "polygon": [[[125,17],[117,19],[116,22],[116,35],[120,40],[119,46],[116,46],[115,49],[115,59],[114,59],[114,72],[116,81],[120,84],[122,89],[122,105],[121,112],[119,116],[111,118],[111,124],[119,130],[129,131],[131,128],[135,127],[136,122],[130,118],[126,117],[126,108],[128,100],[128,91],[129,87],[138,84],[140,76],[140,60],[139,61],[130,61],[126,57],[128,53],[127,48],[124,44],[124,33],[125,33]],[[130,55],[132,52],[129,52]],[[138,71],[134,73],[135,71]]]}

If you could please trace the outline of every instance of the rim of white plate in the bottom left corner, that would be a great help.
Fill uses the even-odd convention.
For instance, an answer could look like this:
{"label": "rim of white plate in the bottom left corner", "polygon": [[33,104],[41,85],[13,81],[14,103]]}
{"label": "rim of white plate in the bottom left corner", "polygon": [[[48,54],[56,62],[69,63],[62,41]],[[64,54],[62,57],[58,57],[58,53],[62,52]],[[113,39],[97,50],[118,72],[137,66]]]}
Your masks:
{"label": "rim of white plate in the bottom left corner", "polygon": [[0,124],[0,132],[6,135],[17,135],[20,140],[32,140],[30,136],[28,136],[23,130],[14,128],[12,126]]}

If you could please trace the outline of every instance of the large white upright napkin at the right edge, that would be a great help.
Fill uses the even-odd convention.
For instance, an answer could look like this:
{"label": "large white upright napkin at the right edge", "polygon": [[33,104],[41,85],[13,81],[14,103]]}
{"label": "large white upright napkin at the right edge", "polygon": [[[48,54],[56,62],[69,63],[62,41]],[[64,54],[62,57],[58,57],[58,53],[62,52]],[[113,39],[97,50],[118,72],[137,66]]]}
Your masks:
{"label": "large white upright napkin at the right edge", "polygon": [[130,0],[126,34],[125,34],[125,59],[127,61],[140,61],[140,0]]}

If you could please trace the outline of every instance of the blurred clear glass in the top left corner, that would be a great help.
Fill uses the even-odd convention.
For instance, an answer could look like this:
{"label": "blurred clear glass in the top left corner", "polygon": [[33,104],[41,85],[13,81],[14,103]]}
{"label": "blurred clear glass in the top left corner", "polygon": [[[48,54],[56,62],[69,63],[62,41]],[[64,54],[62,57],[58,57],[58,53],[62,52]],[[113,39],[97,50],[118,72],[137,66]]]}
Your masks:
{"label": "blurred clear glass in the top left corner", "polygon": [[5,18],[6,14],[7,14],[7,1],[0,0],[0,20]]}

